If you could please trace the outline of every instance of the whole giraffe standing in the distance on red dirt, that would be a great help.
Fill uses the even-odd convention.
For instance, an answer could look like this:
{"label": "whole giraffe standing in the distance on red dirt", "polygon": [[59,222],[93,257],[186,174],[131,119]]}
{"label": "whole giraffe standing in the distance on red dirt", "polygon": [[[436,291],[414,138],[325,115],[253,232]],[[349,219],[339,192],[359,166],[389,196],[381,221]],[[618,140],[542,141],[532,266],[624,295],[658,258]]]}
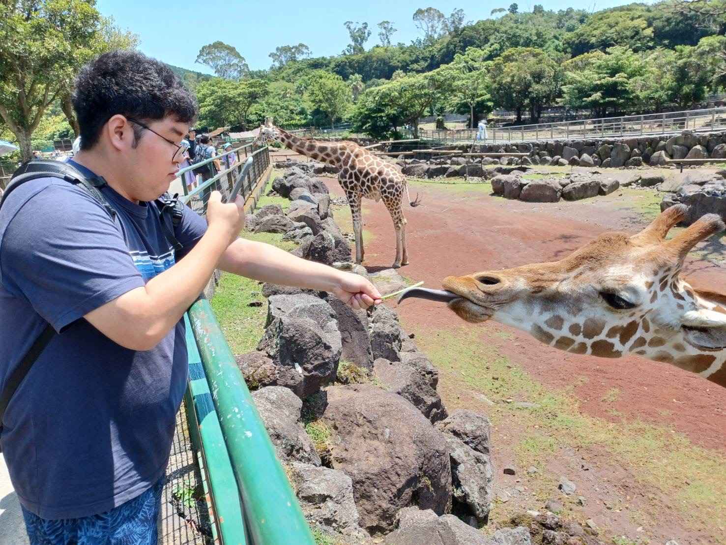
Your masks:
{"label": "whole giraffe standing in the distance on red dirt", "polygon": [[363,223],[361,216],[361,201],[371,198],[378,202],[383,199],[388,212],[393,219],[396,230],[396,261],[393,267],[408,265],[408,251],[406,248],[406,218],[401,210],[401,199],[404,190],[411,206],[418,206],[418,195],[411,201],[408,193],[406,177],[401,174],[398,167],[386,163],[374,156],[369,150],[362,148],[355,142],[317,142],[298,138],[272,125],[268,118],[260,126],[257,142],[266,144],[275,140],[282,142],[287,148],[301,153],[316,161],[323,161],[340,169],[338,182],[348,198],[353,216],[353,230],[356,236],[356,263],[363,261]]}

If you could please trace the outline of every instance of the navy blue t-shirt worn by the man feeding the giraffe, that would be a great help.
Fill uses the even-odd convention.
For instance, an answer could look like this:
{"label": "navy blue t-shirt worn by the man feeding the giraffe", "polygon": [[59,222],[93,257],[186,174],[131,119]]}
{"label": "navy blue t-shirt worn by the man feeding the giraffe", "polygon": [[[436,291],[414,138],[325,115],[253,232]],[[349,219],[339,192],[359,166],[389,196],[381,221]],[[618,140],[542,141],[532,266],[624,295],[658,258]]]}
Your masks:
{"label": "navy blue t-shirt worn by the man feeding the giraffe", "polygon": [[[46,519],[108,511],[158,481],[187,384],[183,320],[142,352],[83,319],[174,265],[155,203],[102,193],[115,221],[57,178],[26,182],[0,211],[0,389],[46,322],[59,333],[12,397],[0,436],[20,503]],[[185,208],[176,259],[205,230]]]}

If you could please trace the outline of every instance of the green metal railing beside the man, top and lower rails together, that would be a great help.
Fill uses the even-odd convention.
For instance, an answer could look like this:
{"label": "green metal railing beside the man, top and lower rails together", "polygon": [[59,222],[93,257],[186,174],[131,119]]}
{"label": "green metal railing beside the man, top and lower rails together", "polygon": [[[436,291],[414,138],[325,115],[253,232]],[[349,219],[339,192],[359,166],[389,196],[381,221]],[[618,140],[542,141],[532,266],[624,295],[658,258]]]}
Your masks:
{"label": "green metal railing beside the man, top and lower rails together", "polygon": [[224,545],[314,545],[209,302],[197,300],[187,315],[190,429],[209,477],[215,538]]}

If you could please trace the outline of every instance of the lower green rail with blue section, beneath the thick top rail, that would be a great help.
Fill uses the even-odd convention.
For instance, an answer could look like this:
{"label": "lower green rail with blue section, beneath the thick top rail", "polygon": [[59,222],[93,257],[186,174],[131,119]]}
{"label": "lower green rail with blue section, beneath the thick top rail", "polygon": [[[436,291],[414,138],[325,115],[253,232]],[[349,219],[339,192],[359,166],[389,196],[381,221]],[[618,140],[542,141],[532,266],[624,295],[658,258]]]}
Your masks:
{"label": "lower green rail with blue section, beneath the thick top rail", "polygon": [[224,545],[245,545],[245,521],[240,505],[240,491],[234,481],[232,463],[224,445],[219,419],[214,410],[209,384],[204,373],[202,358],[197,348],[189,317],[184,315],[187,329],[187,355],[189,358],[189,384],[187,386],[187,422],[189,436],[200,456],[200,469],[204,469],[209,483],[209,494],[215,525]]}

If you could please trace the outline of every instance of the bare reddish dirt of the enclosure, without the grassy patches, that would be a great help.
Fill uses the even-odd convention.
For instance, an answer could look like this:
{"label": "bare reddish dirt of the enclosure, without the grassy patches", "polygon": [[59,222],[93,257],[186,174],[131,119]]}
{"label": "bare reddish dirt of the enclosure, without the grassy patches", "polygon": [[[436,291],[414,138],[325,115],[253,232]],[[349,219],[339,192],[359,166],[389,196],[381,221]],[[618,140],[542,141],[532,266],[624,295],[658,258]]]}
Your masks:
{"label": "bare reddish dirt of the enclosure, without the grassy patches", "polygon": [[[343,196],[337,180],[327,178],[327,184],[333,195]],[[400,273],[424,280],[425,286],[433,288],[448,275],[561,259],[600,233],[635,233],[648,224],[616,193],[579,203],[524,203],[433,184],[416,185],[414,191],[421,192],[423,206],[404,211],[411,263]],[[365,249],[364,265],[369,270],[390,267],[396,239],[386,208],[382,203],[364,201],[363,218],[364,227],[375,235]],[[724,248],[712,244],[709,251],[714,260],[688,262],[685,270],[693,283],[726,284],[723,262],[719,265]],[[449,328],[452,320],[458,320],[441,304],[423,300],[403,304],[397,311],[405,323],[426,328]],[[488,328],[486,338],[539,382],[557,389],[572,387],[585,413],[613,419],[608,411],[614,408],[627,419],[666,425],[697,445],[726,451],[726,388],[635,356],[605,360],[568,355],[507,326],[486,323],[476,327]],[[501,331],[510,338],[492,334]],[[587,382],[579,380],[582,376]],[[619,399],[600,403],[613,388],[619,390]]]}

